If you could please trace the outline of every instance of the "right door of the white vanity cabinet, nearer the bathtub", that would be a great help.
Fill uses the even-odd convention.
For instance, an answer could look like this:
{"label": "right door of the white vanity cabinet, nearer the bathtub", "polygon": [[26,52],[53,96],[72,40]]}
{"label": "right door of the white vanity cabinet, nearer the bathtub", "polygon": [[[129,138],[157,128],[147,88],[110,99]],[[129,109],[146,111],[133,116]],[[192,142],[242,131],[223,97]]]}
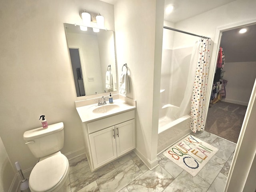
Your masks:
{"label": "right door of the white vanity cabinet, nearer the bathtub", "polygon": [[135,148],[135,121],[134,119],[115,126],[116,152],[121,156]]}

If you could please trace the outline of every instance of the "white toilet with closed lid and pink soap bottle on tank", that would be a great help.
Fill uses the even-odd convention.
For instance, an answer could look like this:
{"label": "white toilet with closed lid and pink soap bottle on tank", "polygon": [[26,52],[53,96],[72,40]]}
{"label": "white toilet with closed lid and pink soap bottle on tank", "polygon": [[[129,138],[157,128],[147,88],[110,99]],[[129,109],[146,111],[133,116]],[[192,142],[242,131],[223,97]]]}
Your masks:
{"label": "white toilet with closed lid and pink soap bottle on tank", "polygon": [[23,139],[36,158],[40,158],[29,176],[31,192],[68,192],[68,159],[60,149],[64,145],[63,122],[24,132]]}

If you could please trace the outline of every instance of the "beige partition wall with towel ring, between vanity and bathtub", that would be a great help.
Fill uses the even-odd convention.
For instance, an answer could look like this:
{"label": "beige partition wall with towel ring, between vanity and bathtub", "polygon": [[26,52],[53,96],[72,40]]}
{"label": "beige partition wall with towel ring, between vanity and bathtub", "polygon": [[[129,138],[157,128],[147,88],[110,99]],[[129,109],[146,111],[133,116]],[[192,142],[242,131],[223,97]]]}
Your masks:
{"label": "beige partition wall with towel ring, between vanity and bathtub", "polygon": [[118,74],[127,63],[128,97],[137,101],[136,150],[148,166],[157,164],[163,2],[118,0],[114,5]]}

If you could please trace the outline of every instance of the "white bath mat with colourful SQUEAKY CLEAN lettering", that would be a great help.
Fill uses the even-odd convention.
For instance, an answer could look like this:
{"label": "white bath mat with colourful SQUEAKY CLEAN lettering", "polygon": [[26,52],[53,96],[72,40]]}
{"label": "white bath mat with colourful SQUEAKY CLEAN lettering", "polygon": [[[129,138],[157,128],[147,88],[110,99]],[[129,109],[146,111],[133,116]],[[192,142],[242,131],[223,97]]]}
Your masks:
{"label": "white bath mat with colourful SQUEAKY CLEAN lettering", "polygon": [[196,176],[218,150],[190,135],[168,148],[163,154],[186,172]]}

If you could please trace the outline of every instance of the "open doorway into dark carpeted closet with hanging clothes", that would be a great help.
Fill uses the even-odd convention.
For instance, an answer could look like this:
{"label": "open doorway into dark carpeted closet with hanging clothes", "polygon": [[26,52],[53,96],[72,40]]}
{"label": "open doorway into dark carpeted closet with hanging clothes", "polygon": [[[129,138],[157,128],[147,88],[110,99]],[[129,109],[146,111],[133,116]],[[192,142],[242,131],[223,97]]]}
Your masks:
{"label": "open doorway into dark carpeted closet with hanging clothes", "polygon": [[256,24],[223,31],[218,52],[205,130],[234,143],[256,78],[255,34]]}

